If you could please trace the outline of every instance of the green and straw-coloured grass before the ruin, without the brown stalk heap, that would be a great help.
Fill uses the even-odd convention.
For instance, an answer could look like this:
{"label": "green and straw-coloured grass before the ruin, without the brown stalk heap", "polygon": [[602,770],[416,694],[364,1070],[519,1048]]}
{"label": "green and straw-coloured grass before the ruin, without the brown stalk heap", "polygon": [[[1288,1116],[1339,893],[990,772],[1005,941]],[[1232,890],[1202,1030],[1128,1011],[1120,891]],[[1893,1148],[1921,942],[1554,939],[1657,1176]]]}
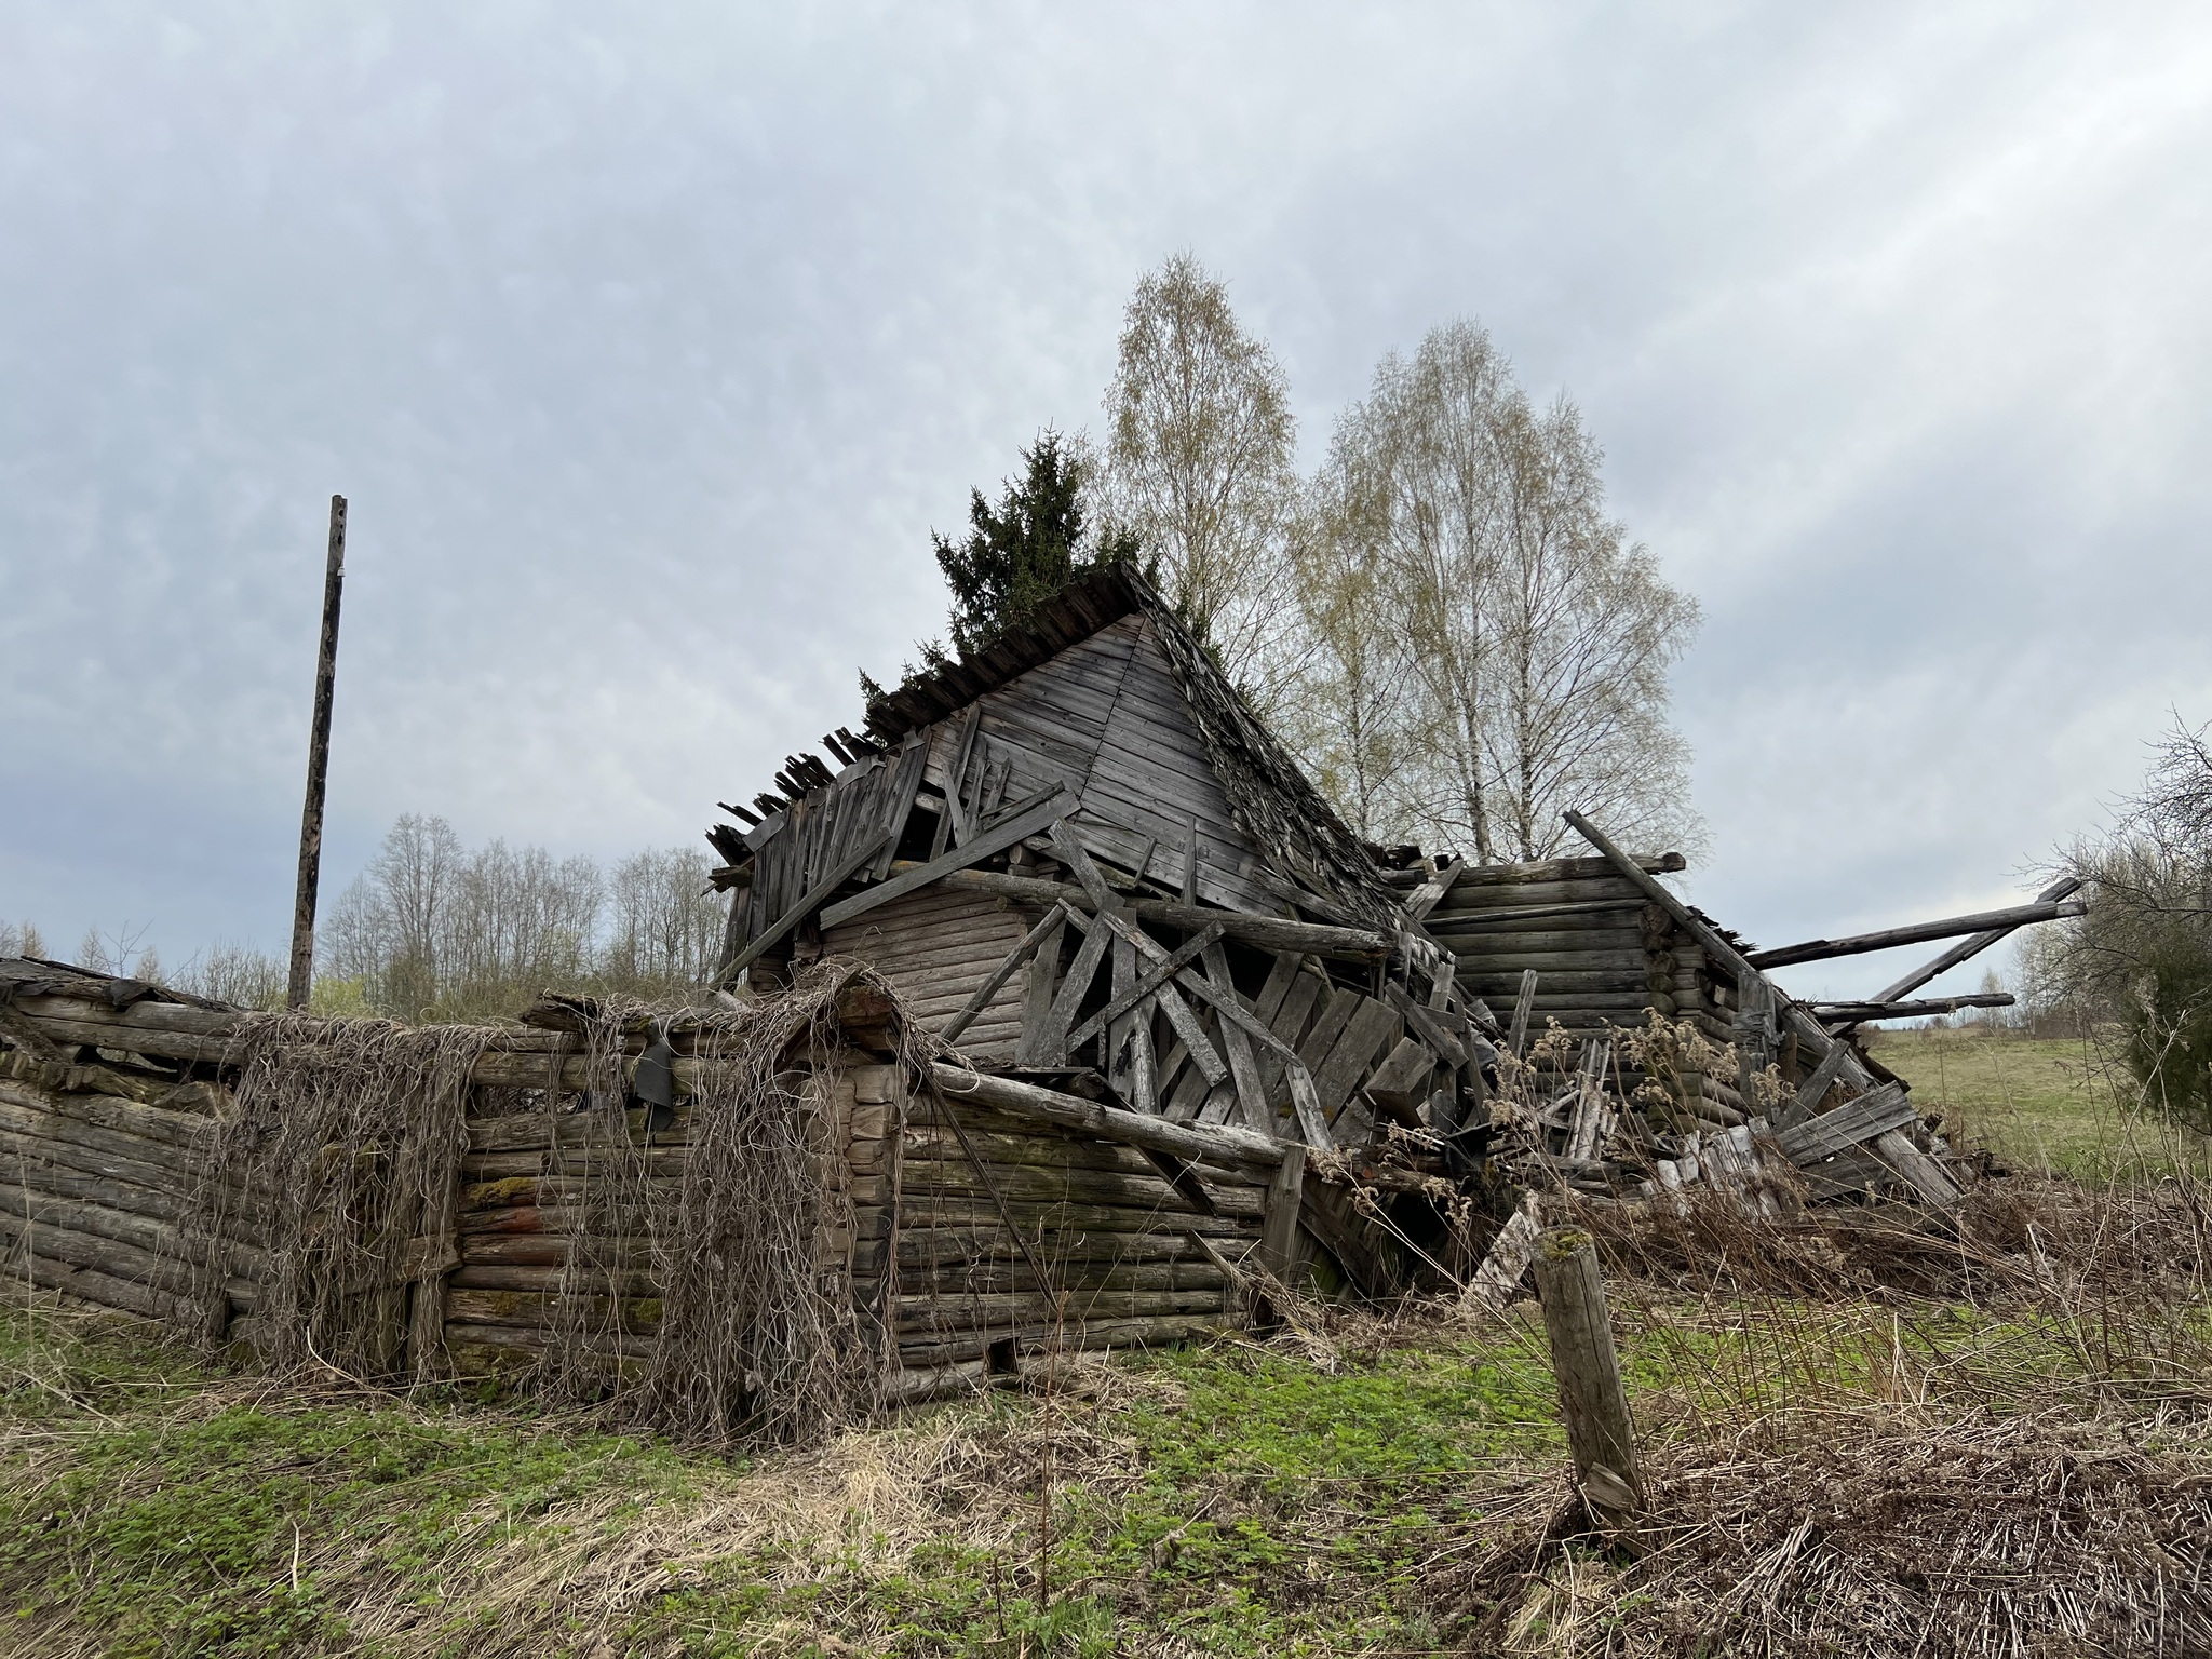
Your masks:
{"label": "green and straw-coloured grass before the ruin, without the brown stalk heap", "polygon": [[[2121,1398],[2064,1321],[1613,1294],[1648,1447],[1796,1407]],[[1433,1652],[1467,1635],[1440,1564],[1542,1522],[1564,1460],[1526,1303],[1077,1363],[752,1460],[495,1400],[279,1394],[18,1303],[0,1652]]]}

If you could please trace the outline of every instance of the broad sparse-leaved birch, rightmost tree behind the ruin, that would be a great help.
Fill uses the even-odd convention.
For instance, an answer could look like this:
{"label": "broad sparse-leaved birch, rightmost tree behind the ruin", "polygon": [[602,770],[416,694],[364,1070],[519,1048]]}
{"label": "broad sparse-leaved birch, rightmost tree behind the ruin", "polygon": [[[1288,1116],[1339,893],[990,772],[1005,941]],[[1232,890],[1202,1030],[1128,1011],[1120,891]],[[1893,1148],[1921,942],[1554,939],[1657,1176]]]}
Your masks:
{"label": "broad sparse-leaved birch, rightmost tree behind the ruin", "polygon": [[1548,858],[1582,807],[1694,845],[1666,672],[1697,602],[1606,515],[1601,451],[1559,398],[1537,411],[1473,323],[1389,356],[1338,427],[1367,480],[1427,706],[1420,816],[1475,858]]}

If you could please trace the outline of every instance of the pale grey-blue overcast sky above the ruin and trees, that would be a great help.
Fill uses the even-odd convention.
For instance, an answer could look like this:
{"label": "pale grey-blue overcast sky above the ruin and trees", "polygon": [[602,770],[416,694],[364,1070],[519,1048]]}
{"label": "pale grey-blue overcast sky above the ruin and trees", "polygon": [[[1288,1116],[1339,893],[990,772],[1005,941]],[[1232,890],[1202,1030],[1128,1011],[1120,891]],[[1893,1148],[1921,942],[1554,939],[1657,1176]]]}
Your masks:
{"label": "pale grey-blue overcast sky above the ruin and trees", "polygon": [[1699,902],[2011,902],[2212,719],[2208,179],[2201,4],[18,0],[0,918],[283,947],[332,491],[325,891],[695,841],[1175,250],[1307,458],[1453,316],[1582,405],[1705,608]]}

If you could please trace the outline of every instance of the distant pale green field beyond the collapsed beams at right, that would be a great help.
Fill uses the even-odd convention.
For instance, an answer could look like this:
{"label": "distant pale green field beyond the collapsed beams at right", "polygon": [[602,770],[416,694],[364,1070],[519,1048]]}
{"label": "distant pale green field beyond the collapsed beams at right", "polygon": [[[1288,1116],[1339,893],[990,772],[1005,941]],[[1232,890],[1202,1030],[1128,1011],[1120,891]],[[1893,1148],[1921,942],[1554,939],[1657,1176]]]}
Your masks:
{"label": "distant pale green field beyond the collapsed beams at right", "polygon": [[2104,1181],[2157,1177],[2201,1157],[2135,1110],[2135,1079],[2093,1040],[2022,1037],[1993,1026],[1882,1033],[1876,1057],[1944,1117],[1962,1146],[1986,1146],[2011,1168]]}

